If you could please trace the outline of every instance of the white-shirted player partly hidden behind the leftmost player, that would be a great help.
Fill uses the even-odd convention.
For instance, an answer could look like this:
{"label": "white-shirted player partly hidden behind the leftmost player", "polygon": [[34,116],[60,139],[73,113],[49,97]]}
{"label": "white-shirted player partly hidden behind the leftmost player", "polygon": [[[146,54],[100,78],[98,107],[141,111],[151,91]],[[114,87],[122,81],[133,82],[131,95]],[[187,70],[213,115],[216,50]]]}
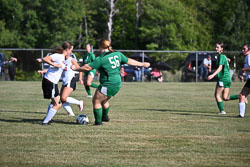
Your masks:
{"label": "white-shirted player partly hidden behind the leftmost player", "polygon": [[[68,112],[68,114],[70,116],[75,116],[69,104],[77,104],[80,111],[82,111],[83,101],[77,100],[73,97],[69,97],[70,94],[76,89],[76,82],[77,82],[77,78],[75,76],[76,72],[70,68],[72,65],[79,67],[78,63],[75,61],[74,58],[70,57],[70,55],[66,55],[65,69],[62,74],[63,83],[62,83],[62,88],[61,88],[61,101],[62,101],[62,105],[64,109]],[[79,81],[80,81],[80,84],[83,84],[82,72],[80,72],[79,74]]]}

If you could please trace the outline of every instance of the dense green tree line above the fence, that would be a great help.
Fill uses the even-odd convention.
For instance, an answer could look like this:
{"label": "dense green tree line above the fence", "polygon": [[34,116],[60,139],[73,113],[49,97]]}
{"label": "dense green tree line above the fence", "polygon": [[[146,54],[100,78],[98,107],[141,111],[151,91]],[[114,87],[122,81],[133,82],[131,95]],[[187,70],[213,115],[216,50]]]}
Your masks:
{"label": "dense green tree line above the fence", "polygon": [[227,50],[250,42],[249,0],[0,0],[0,48]]}

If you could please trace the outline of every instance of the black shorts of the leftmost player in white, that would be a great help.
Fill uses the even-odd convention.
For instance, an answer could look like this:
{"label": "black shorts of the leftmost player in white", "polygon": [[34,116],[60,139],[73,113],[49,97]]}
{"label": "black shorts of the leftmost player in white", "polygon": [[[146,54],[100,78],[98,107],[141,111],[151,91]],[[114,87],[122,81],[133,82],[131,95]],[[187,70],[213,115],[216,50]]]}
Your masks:
{"label": "black shorts of the leftmost player in white", "polygon": [[59,96],[58,85],[50,82],[46,78],[43,78],[42,82],[43,97],[45,99],[51,99]]}

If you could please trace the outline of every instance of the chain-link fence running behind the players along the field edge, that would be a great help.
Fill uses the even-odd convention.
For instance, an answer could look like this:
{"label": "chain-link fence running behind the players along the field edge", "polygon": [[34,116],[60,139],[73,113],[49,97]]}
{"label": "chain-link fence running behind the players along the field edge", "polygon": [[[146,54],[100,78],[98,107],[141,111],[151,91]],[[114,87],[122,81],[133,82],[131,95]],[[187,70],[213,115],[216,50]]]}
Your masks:
{"label": "chain-link fence running behind the players along the field edge", "polygon": [[[38,70],[45,68],[43,64],[36,61],[38,58],[45,57],[51,49],[13,49],[0,48],[0,80],[41,80],[42,76]],[[153,51],[153,50],[117,50],[125,56],[142,62],[150,62],[150,68],[136,69],[124,65],[122,70],[125,82],[201,82],[200,64],[208,55],[215,55],[211,51]],[[100,51],[93,49],[96,56]],[[73,53],[77,57],[80,65],[85,50],[76,49]],[[230,69],[233,80],[238,80],[238,72],[243,67],[244,56],[240,52],[225,52],[230,59]],[[1,56],[2,55],[2,56]],[[216,55],[215,55],[216,56]],[[1,58],[4,57],[4,58]],[[14,57],[17,61],[12,61]],[[216,68],[215,61],[212,67]],[[14,72],[13,72],[14,71]],[[124,76],[123,76],[124,74]],[[98,75],[98,74],[97,74]],[[98,76],[95,77],[98,79]]]}

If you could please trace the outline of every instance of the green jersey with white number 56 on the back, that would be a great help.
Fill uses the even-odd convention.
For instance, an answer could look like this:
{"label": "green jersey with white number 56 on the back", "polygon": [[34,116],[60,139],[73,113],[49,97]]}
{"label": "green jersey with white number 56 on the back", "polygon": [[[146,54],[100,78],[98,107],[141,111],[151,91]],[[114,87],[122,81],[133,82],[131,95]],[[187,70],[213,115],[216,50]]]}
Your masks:
{"label": "green jersey with white number 56 on the back", "polygon": [[122,84],[120,66],[127,62],[128,58],[121,52],[104,52],[89,65],[100,71],[101,85],[120,87]]}

